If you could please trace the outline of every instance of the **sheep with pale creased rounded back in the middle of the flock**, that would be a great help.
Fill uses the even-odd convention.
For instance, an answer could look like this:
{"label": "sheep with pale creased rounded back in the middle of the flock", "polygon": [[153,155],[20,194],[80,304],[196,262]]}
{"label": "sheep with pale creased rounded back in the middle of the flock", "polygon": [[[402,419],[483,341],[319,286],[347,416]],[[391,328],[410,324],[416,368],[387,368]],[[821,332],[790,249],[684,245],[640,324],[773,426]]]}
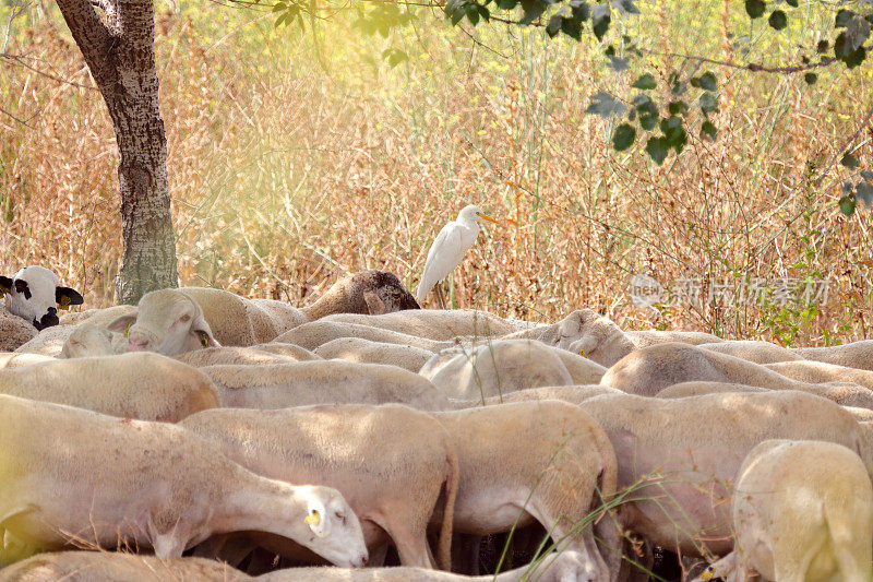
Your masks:
{"label": "sheep with pale creased rounded back in the middle of the flock", "polygon": [[[439,368],[429,366],[429,370],[422,368],[419,373],[446,396],[459,400],[487,399],[525,388],[574,383],[554,351],[535,340],[495,340],[469,352],[464,351]],[[599,380],[599,377],[595,372],[589,382]]]}

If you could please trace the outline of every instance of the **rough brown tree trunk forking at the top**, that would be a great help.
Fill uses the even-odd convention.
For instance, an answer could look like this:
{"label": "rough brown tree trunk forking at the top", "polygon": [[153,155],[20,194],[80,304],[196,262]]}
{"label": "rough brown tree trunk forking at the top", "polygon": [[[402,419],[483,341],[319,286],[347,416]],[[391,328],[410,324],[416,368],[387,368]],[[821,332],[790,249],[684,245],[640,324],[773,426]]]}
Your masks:
{"label": "rough brown tree trunk forking at the top", "polygon": [[[98,16],[94,5],[103,10]],[[167,185],[167,138],[158,107],[152,0],[58,0],[103,95],[119,151],[123,250],[116,299],[178,285]]]}

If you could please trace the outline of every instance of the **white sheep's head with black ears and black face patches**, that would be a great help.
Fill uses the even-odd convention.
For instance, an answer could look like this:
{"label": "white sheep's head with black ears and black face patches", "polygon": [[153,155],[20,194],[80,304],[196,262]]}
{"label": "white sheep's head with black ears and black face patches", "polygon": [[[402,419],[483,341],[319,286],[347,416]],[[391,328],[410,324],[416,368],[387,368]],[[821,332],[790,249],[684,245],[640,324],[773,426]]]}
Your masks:
{"label": "white sheep's head with black ears and black face patches", "polygon": [[33,323],[37,330],[58,324],[58,308],[81,305],[75,289],[62,287],[58,275],[45,266],[25,266],[12,277],[0,276],[0,297],[7,295],[10,313]]}

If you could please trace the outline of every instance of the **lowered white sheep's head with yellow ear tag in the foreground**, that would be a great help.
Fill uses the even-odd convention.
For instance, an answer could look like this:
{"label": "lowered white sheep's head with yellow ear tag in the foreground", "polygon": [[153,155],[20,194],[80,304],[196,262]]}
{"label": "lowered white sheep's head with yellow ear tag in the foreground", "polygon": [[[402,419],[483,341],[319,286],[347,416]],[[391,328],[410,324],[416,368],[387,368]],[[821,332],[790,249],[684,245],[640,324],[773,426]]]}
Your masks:
{"label": "lowered white sheep's head with yellow ear tag in the foreground", "polygon": [[362,568],[367,565],[361,524],[343,495],[331,487],[297,489],[306,499],[303,521],[314,534],[303,545],[336,566]]}

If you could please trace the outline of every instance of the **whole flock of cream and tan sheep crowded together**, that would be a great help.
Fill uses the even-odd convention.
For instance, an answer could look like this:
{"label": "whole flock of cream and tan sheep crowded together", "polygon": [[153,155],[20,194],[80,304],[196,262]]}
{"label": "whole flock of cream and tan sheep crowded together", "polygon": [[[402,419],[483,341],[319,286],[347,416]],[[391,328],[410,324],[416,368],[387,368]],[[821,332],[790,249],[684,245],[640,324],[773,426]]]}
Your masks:
{"label": "whole flock of cream and tan sheep crowded together", "polygon": [[656,548],[873,579],[873,342],[422,310],[379,271],[301,309],[0,293],[0,581],[467,580],[507,533],[481,580],[646,580]]}

